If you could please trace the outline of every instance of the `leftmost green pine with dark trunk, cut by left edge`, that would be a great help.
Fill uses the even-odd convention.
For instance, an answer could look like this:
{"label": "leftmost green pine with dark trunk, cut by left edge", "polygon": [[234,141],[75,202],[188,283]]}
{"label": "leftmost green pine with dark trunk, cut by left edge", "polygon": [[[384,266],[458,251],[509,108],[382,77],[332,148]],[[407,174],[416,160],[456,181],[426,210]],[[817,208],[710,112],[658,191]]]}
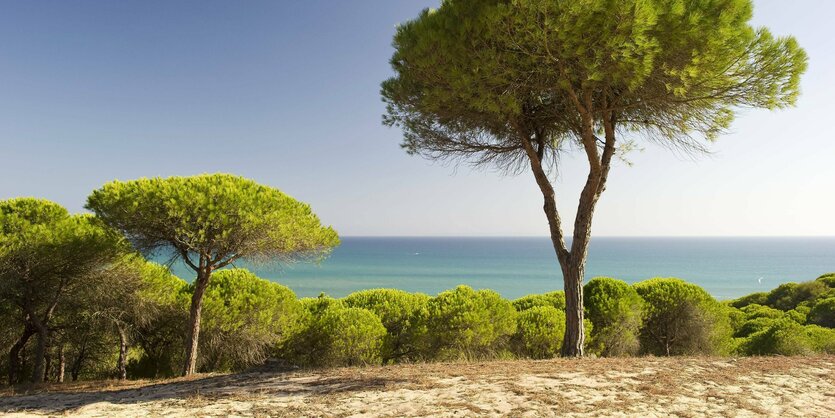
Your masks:
{"label": "leftmost green pine with dark trunk, cut by left edge", "polygon": [[[56,320],[72,323],[82,320],[76,314],[89,316],[79,302],[101,293],[101,273],[127,250],[118,233],[92,216],[70,215],[42,199],[0,201],[0,299],[17,311],[15,325],[24,343],[38,331],[30,381],[48,372],[44,358]],[[10,360],[10,367],[21,364],[19,354]],[[22,380],[10,373],[11,383]]]}

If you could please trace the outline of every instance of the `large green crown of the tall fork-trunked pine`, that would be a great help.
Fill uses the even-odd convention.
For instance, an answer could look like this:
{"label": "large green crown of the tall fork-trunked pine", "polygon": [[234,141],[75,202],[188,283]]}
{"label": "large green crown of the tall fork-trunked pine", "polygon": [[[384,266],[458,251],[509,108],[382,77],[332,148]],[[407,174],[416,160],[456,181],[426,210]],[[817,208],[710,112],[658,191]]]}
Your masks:
{"label": "large green crown of the tall fork-trunked pine", "polygon": [[[754,28],[750,0],[447,1],[398,26],[385,123],[435,158],[513,167],[520,138],[580,143],[578,120],[681,145],[740,107],[795,103],[806,54]],[[589,114],[591,113],[591,114]],[[582,149],[582,148],[581,148]]]}

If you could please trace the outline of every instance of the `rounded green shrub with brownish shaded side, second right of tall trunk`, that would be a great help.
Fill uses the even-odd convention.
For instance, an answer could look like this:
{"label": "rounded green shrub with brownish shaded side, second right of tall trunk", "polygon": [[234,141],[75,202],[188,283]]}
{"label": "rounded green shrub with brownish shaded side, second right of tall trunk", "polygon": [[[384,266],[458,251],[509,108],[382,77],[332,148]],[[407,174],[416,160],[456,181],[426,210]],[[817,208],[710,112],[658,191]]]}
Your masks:
{"label": "rounded green shrub with brownish shaded side, second right of tall trunk", "polygon": [[723,354],[731,328],[725,307],[699,286],[679,279],[635,284],[646,302],[642,351],[655,355]]}

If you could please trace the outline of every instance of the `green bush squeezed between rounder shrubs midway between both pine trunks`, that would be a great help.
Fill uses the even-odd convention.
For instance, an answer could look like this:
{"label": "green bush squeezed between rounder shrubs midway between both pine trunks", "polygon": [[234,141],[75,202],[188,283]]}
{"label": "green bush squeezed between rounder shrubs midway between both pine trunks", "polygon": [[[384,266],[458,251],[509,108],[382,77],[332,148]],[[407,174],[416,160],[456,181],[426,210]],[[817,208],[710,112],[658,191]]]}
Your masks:
{"label": "green bush squeezed between rounder shrubs midway between both pine trunks", "polygon": [[377,315],[386,327],[383,362],[419,356],[418,332],[414,325],[418,312],[425,309],[429,296],[396,289],[371,289],[355,292],[343,299],[345,306],[363,308]]}

